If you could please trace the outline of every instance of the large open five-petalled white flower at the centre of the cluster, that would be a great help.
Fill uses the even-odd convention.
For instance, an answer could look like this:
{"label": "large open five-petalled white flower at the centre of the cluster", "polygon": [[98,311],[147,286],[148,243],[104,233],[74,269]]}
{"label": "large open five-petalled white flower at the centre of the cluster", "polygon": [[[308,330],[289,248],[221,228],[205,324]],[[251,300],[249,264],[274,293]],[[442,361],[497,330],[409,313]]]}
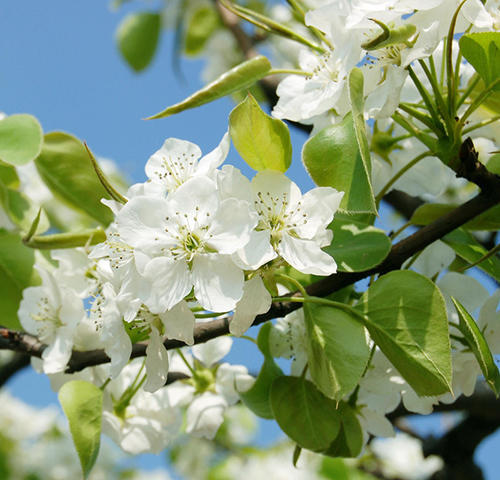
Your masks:
{"label": "large open five-petalled white flower at the centre of the cluster", "polygon": [[174,307],[193,286],[207,310],[232,310],[243,294],[243,272],[230,254],[248,242],[255,224],[247,202],[221,200],[207,177],[188,180],[167,199],[135,197],[116,217],[136,264],[140,253],[150,258],[138,268],[150,287],[138,294],[153,313]]}

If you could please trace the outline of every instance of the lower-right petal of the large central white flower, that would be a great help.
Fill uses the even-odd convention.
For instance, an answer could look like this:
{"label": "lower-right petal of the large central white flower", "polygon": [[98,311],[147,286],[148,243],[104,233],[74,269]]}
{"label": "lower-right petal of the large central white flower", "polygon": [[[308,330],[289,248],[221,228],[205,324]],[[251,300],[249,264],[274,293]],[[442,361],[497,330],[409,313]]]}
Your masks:
{"label": "lower-right petal of the large central white flower", "polygon": [[232,310],[243,295],[243,271],[229,256],[196,256],[192,275],[196,299],[212,312]]}

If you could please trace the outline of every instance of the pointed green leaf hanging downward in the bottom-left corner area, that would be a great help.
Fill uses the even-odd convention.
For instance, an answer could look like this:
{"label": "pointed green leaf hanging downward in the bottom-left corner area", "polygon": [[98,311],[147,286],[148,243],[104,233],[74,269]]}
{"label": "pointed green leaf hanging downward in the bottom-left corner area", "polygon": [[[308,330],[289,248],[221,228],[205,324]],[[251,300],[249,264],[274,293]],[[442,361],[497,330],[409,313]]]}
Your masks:
{"label": "pointed green leaf hanging downward in the bottom-left corner area", "polygon": [[83,380],[72,380],[59,390],[59,402],[69,422],[84,478],[88,478],[101,441],[102,391]]}

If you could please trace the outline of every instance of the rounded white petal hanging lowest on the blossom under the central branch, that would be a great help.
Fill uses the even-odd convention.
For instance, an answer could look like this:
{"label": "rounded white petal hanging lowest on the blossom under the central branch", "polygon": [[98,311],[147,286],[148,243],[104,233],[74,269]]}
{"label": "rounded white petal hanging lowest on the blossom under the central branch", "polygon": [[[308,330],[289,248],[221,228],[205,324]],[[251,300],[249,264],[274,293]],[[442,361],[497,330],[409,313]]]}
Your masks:
{"label": "rounded white petal hanging lowest on the blossom under the central branch", "polygon": [[227,403],[223,397],[205,392],[196,397],[186,414],[186,433],[213,439],[224,421]]}

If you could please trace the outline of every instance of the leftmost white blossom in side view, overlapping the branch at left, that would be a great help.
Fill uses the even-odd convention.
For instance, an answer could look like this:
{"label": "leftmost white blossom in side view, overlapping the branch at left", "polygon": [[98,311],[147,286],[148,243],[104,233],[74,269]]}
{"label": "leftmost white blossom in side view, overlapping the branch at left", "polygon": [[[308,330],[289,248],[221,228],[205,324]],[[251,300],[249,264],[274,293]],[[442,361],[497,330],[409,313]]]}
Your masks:
{"label": "leftmost white blossom in side view, overlapping the branch at left", "polygon": [[85,312],[73,290],[59,285],[47,270],[38,271],[42,285],[24,290],[18,316],[28,333],[48,345],[42,353],[44,372],[56,373],[64,370],[71,357],[73,337]]}

